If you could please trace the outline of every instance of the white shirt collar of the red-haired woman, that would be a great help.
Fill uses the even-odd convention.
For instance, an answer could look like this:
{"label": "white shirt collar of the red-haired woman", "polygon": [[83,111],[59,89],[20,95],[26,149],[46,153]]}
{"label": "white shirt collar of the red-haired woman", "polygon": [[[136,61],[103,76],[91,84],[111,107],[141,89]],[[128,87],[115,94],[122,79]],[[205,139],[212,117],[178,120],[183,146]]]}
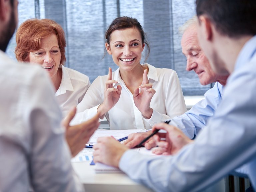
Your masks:
{"label": "white shirt collar of the red-haired woman", "polygon": [[70,76],[69,76],[69,73],[68,73],[66,67],[61,66],[61,69],[62,69],[61,83],[60,83],[60,87],[57,90],[55,96],[65,94],[66,91],[74,91],[74,88],[72,86]]}

